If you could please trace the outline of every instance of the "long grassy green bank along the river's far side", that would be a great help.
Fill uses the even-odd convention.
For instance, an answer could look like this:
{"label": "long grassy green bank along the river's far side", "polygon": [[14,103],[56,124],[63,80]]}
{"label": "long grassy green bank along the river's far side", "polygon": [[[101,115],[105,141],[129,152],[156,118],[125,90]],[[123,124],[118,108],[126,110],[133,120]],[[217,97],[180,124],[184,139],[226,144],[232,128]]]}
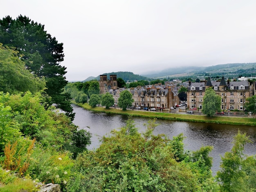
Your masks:
{"label": "long grassy green bank along the river's far side", "polygon": [[200,122],[200,123],[216,123],[216,124],[228,124],[228,125],[247,125],[256,126],[256,118],[242,118],[242,117],[228,117],[228,116],[213,116],[207,117],[203,115],[188,115],[188,114],[172,114],[164,112],[148,112],[144,110],[126,110],[121,109],[106,109],[104,107],[91,107],[88,103],[76,103],[74,100],[71,101],[74,105],[83,107],[84,109],[91,110],[94,112],[103,112],[109,114],[119,115],[132,115],[145,118],[157,118],[174,121],[189,121],[189,122]]}

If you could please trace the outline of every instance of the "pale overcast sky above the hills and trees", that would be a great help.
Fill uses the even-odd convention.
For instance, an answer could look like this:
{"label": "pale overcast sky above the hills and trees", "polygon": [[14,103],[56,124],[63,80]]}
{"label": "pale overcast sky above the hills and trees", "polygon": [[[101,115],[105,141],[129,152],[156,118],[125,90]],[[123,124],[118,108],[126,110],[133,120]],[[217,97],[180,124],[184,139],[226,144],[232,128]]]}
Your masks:
{"label": "pale overcast sky above the hills and trees", "polygon": [[63,43],[68,81],[256,62],[255,0],[4,0]]}

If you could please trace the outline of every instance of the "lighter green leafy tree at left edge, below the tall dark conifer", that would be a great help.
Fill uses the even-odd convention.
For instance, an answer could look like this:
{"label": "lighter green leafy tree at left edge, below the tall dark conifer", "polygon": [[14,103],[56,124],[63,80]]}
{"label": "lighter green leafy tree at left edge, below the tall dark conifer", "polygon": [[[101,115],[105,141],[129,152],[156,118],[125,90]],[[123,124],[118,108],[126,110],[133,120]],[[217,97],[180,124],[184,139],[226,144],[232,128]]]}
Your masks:
{"label": "lighter green leafy tree at left edge, below the tall dark conifer", "polygon": [[45,79],[38,78],[26,69],[18,51],[3,47],[0,43],[0,91],[11,94],[45,88]]}

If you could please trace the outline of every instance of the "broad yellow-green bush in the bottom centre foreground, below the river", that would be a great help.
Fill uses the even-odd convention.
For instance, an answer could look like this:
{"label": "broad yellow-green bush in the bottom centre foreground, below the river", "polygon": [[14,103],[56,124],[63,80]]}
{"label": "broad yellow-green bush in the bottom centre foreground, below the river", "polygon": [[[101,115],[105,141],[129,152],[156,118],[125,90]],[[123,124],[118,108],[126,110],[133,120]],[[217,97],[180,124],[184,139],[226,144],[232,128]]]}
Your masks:
{"label": "broad yellow-green bush in the bottom centre foreground, below the river", "polygon": [[[155,120],[139,134],[130,118],[120,131],[103,137],[96,151],[80,154],[69,191],[218,191],[211,172],[200,161],[176,161],[175,148],[164,135],[152,134]],[[176,146],[180,147],[180,146]],[[192,157],[191,157],[192,159]],[[191,166],[188,166],[188,163]],[[200,166],[201,167],[200,167]]]}

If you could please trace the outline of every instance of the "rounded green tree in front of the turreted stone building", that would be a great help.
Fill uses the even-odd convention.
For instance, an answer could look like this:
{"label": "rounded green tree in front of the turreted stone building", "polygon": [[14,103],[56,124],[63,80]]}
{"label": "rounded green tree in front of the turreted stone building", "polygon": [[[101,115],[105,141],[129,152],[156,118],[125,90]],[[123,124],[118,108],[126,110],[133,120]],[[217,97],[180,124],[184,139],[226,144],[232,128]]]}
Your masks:
{"label": "rounded green tree in front of the turreted stone building", "polygon": [[212,117],[216,112],[220,112],[221,97],[216,95],[216,92],[209,87],[205,89],[202,112],[209,117]]}

